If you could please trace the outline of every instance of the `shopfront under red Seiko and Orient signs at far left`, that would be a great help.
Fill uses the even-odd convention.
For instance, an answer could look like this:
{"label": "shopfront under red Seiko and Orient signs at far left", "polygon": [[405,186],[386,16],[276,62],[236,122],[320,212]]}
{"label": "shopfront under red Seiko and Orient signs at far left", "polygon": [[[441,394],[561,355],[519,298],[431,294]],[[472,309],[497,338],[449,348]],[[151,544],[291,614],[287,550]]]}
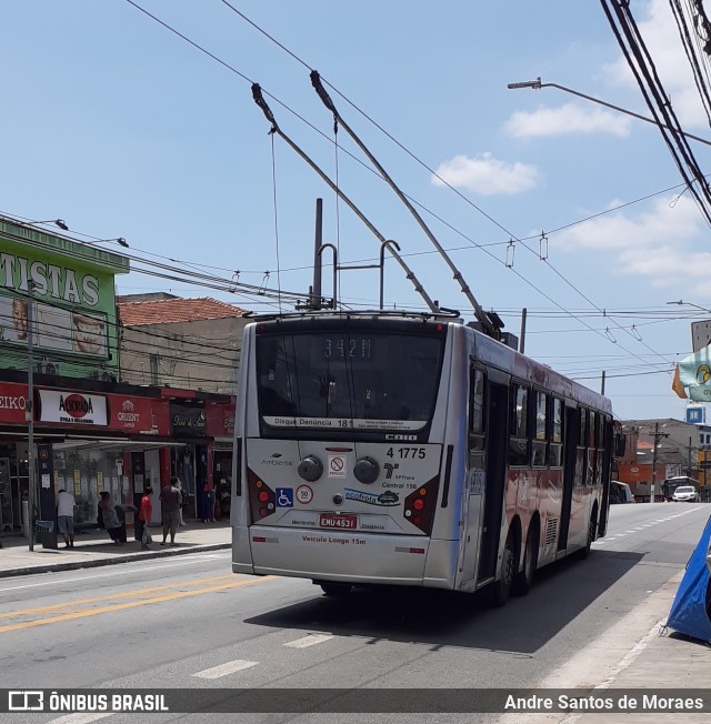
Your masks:
{"label": "shopfront under red Seiko and Orient signs at far left", "polygon": [[[103,392],[87,389],[90,383],[80,380],[70,382],[72,386],[83,382],[83,390],[69,390],[44,385],[44,375],[38,376],[34,441],[51,457],[38,476],[42,494],[37,500],[53,504],[54,494],[68,490],[77,501],[77,525],[93,525],[99,492],[109,491],[117,503],[133,503],[149,482],[160,487],[160,461],[168,473],[172,444],[169,405],[159,390],[147,396],[152,391],[103,385],[113,390]],[[27,384],[0,381],[0,533],[22,530],[27,515],[22,505],[29,491],[27,398]],[[140,475],[133,472],[137,466]],[[52,493],[49,499],[47,491]]]}

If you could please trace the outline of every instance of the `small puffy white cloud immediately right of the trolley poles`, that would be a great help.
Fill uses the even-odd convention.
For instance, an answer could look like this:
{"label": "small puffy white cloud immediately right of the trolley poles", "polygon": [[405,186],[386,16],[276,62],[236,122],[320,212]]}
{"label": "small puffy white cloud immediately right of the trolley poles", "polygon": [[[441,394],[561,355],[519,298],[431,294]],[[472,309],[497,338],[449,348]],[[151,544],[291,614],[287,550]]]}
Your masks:
{"label": "small puffy white cloud immediately right of the trolley poles", "polygon": [[[441,163],[432,177],[434,185],[443,182],[457,189],[467,189],[483,195],[513,194],[534,188],[540,172],[527,163],[507,163],[494,159],[491,153],[481,153],[474,159],[455,155]],[[439,178],[438,178],[439,177]]]}

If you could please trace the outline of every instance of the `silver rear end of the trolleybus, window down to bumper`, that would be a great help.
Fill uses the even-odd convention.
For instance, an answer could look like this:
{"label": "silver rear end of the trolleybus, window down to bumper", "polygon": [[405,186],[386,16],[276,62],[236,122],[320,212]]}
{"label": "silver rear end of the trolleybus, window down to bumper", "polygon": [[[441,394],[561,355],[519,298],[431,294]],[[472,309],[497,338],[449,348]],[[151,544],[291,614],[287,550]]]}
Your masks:
{"label": "silver rear end of the trolleybus, window down to bumper", "polygon": [[236,572],[324,590],[438,585],[433,431],[444,425],[447,330],[423,316],[342,314],[246,329]]}

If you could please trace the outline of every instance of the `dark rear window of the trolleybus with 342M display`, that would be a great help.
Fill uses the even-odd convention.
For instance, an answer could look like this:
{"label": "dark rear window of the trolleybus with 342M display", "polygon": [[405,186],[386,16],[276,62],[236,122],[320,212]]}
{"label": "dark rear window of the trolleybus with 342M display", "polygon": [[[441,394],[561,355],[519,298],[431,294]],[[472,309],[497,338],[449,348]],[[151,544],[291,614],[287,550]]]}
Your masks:
{"label": "dark rear window of the trolleybus with 342M display", "polygon": [[443,336],[340,332],[257,338],[259,412],[272,428],[423,429]]}

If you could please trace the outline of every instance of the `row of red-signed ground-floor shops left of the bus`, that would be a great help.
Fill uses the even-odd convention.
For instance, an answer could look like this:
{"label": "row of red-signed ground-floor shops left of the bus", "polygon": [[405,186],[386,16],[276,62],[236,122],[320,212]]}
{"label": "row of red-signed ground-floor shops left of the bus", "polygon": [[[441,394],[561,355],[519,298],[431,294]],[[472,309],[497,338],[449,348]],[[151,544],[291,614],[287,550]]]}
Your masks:
{"label": "row of red-signed ground-floor shops left of the bus", "polygon": [[[42,374],[36,380],[36,460],[39,446],[44,455],[36,496],[43,510],[37,515],[53,517],[54,495],[64,489],[77,501],[77,525],[92,526],[101,491],[116,503],[138,506],[150,485],[158,524],[161,483],[171,475],[180,480],[187,519],[221,514],[216,503],[229,492],[232,465],[229,396],[90,380],[67,379],[63,388]],[[27,516],[27,398],[24,382],[0,381],[0,535],[21,531]]]}

